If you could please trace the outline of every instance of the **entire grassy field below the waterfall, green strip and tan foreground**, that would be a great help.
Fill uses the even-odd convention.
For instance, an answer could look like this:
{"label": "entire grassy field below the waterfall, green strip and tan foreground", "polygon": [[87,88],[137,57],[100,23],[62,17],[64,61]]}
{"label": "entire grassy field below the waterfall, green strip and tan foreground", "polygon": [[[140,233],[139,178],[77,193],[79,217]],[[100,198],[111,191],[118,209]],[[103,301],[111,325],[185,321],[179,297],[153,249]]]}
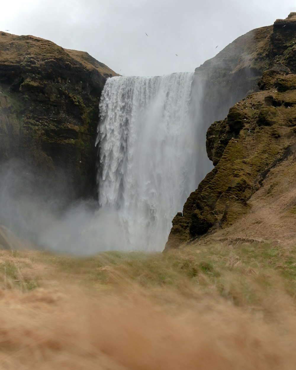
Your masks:
{"label": "entire grassy field below the waterfall, green strip and tan foreground", "polygon": [[295,369],[296,252],[0,252],[0,369]]}

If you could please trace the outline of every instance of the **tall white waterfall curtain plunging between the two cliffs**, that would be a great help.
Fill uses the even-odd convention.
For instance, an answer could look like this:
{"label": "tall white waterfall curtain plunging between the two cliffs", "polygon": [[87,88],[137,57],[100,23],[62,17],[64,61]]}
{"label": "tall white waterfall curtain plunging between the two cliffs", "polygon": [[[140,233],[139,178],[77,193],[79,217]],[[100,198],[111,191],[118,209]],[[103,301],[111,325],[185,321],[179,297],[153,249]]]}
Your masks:
{"label": "tall white waterfall curtain plunging between the two cliffs", "polygon": [[110,233],[121,229],[118,249],[163,249],[172,218],[197,187],[193,78],[193,73],[112,77],[105,84],[97,137],[98,193],[102,209],[116,211]]}

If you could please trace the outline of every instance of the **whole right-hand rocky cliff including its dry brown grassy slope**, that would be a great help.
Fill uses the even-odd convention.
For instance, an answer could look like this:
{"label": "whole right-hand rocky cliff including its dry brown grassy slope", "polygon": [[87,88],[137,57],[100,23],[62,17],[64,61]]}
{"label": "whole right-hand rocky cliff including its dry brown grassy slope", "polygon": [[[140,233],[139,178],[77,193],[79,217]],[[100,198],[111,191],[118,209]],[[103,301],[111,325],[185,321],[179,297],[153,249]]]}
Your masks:
{"label": "whole right-hand rocky cliff including its dry brown grassy slope", "polygon": [[[296,13],[252,33],[252,47],[239,58],[263,69],[262,91],[249,93],[209,127],[206,148],[215,168],[173,219],[166,249],[229,233],[296,238]],[[233,71],[227,73],[230,79]]]}

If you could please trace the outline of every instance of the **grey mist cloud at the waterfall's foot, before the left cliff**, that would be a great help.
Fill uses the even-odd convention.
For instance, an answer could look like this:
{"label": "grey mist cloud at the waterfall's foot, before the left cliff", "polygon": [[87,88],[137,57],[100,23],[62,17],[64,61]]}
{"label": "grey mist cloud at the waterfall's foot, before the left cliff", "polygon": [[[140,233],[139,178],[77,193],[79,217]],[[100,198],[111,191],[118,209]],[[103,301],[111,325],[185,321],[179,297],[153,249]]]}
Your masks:
{"label": "grey mist cloud at the waterfall's foot, before the left cliff", "polygon": [[0,177],[0,225],[24,244],[77,255],[121,249],[116,213],[98,209],[95,199],[73,201],[63,175],[53,181],[14,159]]}

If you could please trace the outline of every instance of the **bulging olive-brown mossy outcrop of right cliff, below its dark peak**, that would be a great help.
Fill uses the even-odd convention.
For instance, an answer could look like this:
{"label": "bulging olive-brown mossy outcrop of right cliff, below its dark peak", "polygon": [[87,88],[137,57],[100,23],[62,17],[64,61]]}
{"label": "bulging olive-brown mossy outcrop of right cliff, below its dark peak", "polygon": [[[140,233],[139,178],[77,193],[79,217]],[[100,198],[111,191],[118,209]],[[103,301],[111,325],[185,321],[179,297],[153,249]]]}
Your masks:
{"label": "bulging olive-brown mossy outcrop of right cliff, below its dark peak", "polygon": [[[293,101],[293,90],[249,95],[229,110],[225,120],[211,125],[207,152],[215,168],[186,201],[182,222],[178,219],[174,230],[175,241],[178,236],[184,243],[185,238],[228,228],[250,212],[252,194],[263,186],[270,169],[286,158],[287,148],[293,151],[296,129],[290,127],[296,125],[296,110],[286,105]],[[266,195],[272,191],[271,186]]]}

